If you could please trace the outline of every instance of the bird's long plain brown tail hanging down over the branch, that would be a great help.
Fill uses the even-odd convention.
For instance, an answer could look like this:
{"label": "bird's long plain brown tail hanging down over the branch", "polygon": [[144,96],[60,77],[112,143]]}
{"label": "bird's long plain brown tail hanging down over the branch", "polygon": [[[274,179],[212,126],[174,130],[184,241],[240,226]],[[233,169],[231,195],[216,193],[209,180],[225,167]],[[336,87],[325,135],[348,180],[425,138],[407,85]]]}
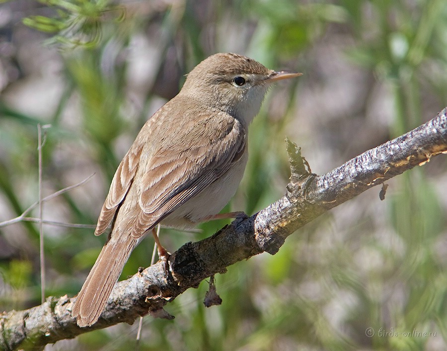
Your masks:
{"label": "bird's long plain brown tail hanging down over the branch", "polygon": [[117,282],[124,264],[138,245],[138,240],[110,239],[102,248],[95,264],[82,285],[72,311],[79,327],[94,324],[101,314],[107,299]]}

